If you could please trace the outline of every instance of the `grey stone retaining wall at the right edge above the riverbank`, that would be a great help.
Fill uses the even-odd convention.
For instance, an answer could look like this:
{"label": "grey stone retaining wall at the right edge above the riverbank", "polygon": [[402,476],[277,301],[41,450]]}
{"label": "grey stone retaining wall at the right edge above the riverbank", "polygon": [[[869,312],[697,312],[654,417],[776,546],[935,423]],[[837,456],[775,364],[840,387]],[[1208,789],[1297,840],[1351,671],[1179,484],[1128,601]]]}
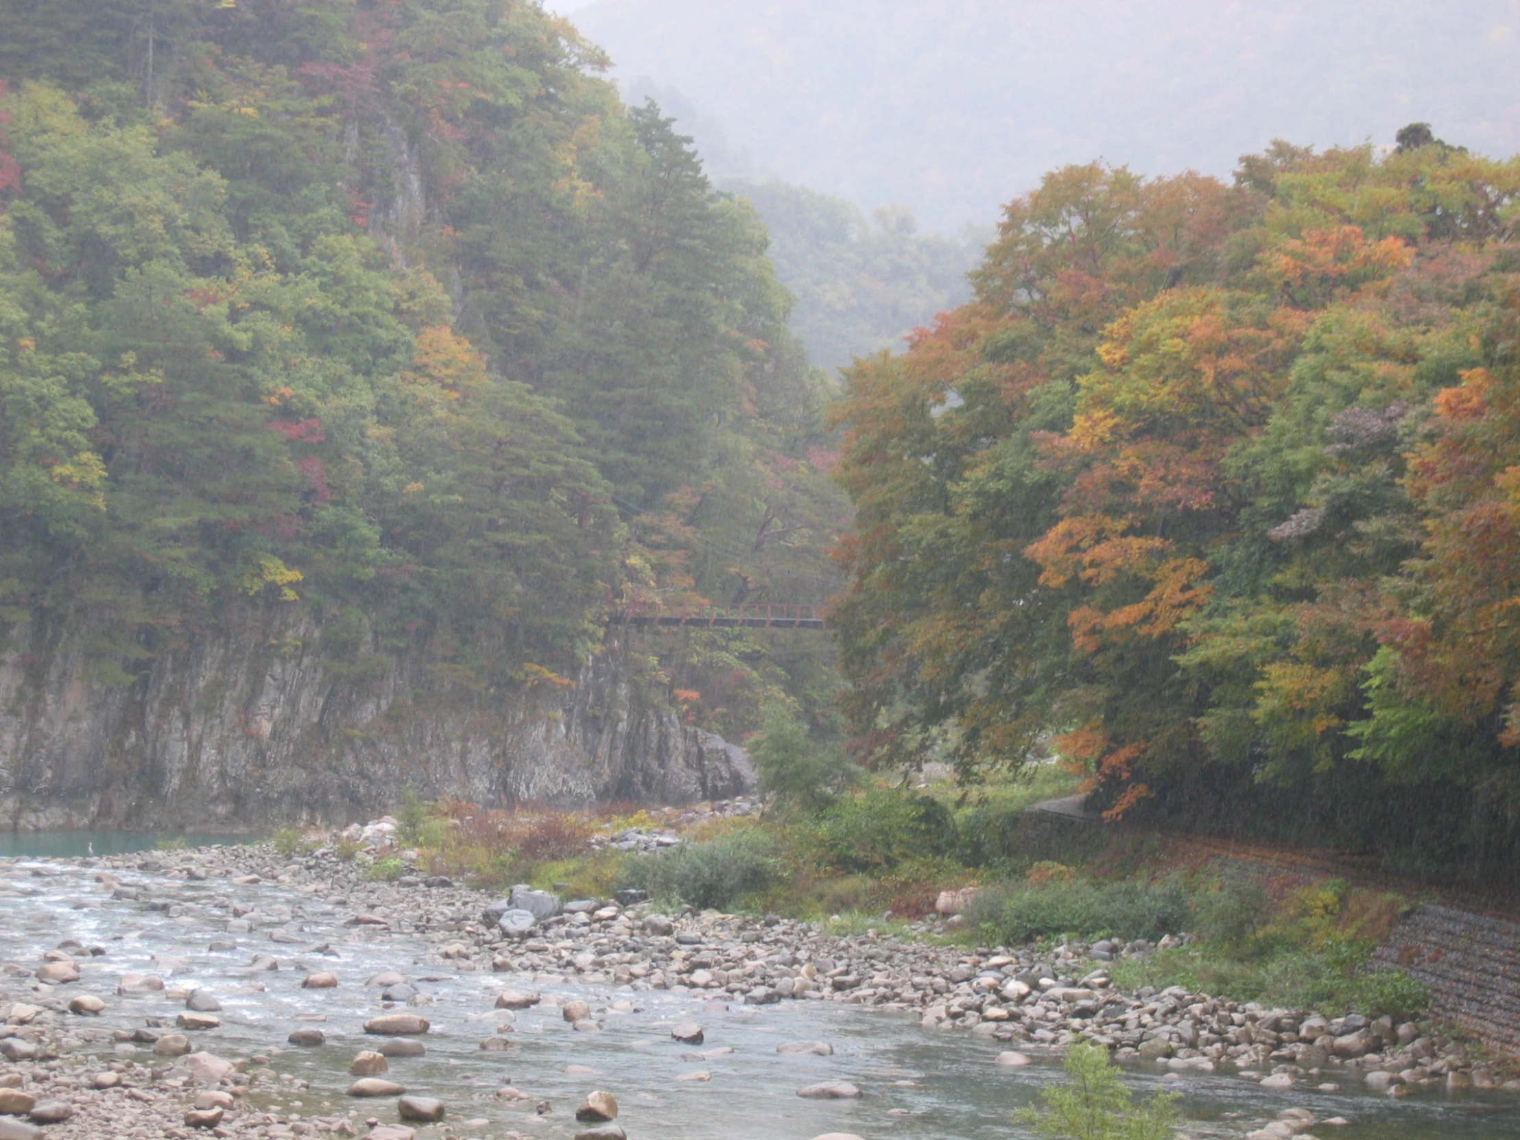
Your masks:
{"label": "grey stone retaining wall at the right edge above the riverbank", "polygon": [[1438,1015],[1496,1049],[1520,1052],[1520,923],[1426,903],[1373,961],[1430,986]]}

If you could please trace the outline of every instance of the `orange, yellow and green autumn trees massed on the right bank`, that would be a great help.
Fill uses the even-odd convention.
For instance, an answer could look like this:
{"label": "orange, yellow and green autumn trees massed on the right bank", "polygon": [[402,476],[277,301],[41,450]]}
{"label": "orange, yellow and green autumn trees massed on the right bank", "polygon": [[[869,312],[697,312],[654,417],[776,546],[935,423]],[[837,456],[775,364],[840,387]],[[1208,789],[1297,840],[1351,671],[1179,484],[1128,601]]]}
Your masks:
{"label": "orange, yellow and green autumn trees massed on the right bank", "polygon": [[1400,143],[1056,170],[848,372],[868,754],[1520,865],[1520,160]]}

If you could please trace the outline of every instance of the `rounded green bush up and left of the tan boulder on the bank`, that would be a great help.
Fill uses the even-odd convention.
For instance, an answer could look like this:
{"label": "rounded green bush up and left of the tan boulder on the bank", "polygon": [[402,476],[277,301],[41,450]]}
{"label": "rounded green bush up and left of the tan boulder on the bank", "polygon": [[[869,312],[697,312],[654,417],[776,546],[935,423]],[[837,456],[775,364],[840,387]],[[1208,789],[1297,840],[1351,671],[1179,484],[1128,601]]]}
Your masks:
{"label": "rounded green bush up and left of the tan boulder on the bank", "polygon": [[847,872],[880,874],[956,847],[955,818],[944,804],[885,787],[838,800],[818,818],[815,834],[824,859]]}

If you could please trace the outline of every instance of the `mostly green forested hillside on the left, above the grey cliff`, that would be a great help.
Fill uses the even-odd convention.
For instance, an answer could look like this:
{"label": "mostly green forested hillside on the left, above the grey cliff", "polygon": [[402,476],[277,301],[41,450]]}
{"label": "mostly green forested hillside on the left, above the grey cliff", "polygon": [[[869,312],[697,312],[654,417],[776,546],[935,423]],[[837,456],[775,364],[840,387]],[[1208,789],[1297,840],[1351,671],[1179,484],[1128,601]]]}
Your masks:
{"label": "mostly green forested hillside on the left, above the grey cliff", "polygon": [[[765,230],[602,65],[520,0],[0,3],[0,622],[88,611],[131,687],[306,606],[479,690],[617,597],[821,600]],[[827,701],[821,649],[675,649],[724,727]]]}

